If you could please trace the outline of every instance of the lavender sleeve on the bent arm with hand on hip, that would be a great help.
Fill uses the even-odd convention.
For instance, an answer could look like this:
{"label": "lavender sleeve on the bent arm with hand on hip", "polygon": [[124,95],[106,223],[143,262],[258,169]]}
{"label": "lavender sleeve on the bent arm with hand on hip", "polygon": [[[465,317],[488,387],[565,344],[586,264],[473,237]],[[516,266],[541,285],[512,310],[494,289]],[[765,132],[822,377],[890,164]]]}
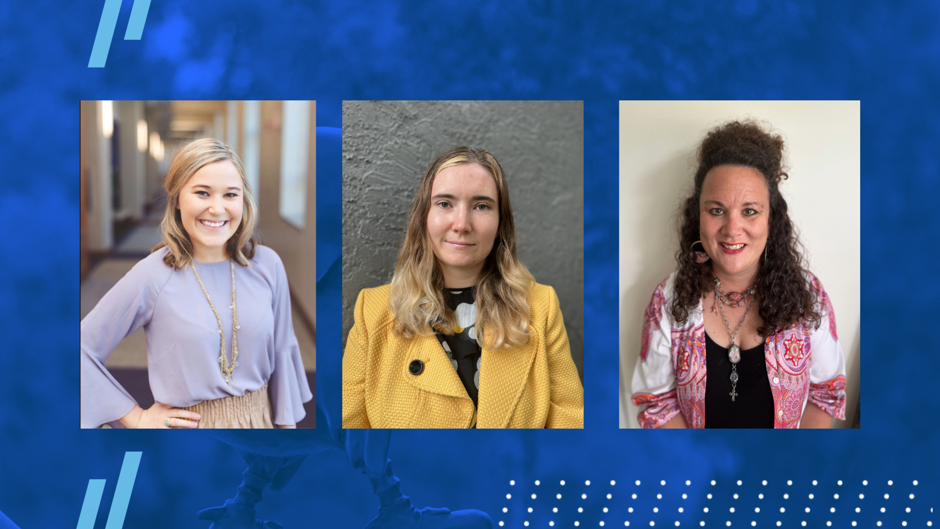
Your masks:
{"label": "lavender sleeve on the bent arm with hand on hip", "polygon": [[[164,267],[154,268],[155,262]],[[104,361],[121,340],[149,324],[160,289],[172,270],[159,256],[151,256],[133,266],[81,324],[81,427],[124,426],[118,419],[127,415],[137,401],[104,367]]]}

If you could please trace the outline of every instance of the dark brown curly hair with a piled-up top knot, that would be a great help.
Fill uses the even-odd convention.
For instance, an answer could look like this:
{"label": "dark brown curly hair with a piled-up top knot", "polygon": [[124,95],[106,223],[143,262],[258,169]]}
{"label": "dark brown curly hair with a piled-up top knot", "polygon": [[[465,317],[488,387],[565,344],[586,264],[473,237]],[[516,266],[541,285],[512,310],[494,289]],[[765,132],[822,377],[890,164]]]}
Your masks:
{"label": "dark brown curly hair with a piled-up top knot", "polygon": [[770,219],[766,258],[761,257],[758,272],[758,311],[763,326],[760,336],[767,337],[798,322],[820,325],[821,314],[815,308],[816,297],[809,289],[802,248],[793,232],[787,213],[787,201],[779,184],[788,178],[783,165],[783,138],[766,132],[754,121],[730,121],[713,128],[702,139],[697,152],[698,168],[694,190],[679,212],[679,250],[676,261],[675,297],[670,313],[677,322],[685,322],[702,295],[713,288],[712,262],[697,263],[692,245],[699,236],[699,200],[705,175],[723,165],[754,168],[763,175],[770,197]]}

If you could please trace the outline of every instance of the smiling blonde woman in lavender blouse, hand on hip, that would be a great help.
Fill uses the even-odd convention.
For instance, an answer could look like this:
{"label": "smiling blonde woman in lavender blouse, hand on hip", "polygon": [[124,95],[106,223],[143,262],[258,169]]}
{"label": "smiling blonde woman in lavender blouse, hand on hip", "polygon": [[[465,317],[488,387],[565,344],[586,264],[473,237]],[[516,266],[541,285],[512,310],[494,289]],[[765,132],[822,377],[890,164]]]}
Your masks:
{"label": "smiling blonde woman in lavender blouse, hand on hip", "polygon": [[[163,242],[82,320],[82,427],[295,427],[312,394],[284,265],[257,243],[242,162],[198,139],[173,157],[165,188]],[[104,366],[141,327],[149,409]]]}

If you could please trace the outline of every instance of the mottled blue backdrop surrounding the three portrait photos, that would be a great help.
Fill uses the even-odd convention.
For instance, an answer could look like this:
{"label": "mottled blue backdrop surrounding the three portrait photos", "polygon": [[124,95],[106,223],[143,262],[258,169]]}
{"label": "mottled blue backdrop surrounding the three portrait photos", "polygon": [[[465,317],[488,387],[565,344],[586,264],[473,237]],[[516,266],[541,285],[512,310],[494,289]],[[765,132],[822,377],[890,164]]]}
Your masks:
{"label": "mottled blue backdrop surrounding the three portrait photos", "polygon": [[[334,128],[344,99],[584,100],[586,428],[396,432],[390,457],[404,492],[416,505],[478,508],[509,527],[940,521],[930,512],[940,462],[930,341],[940,253],[935,3],[154,0],[138,41],[122,40],[125,0],[107,66],[88,69],[102,4],[0,4],[0,225],[8,248],[0,280],[0,511],[24,529],[72,526],[89,478],[108,480],[96,524],[103,527],[125,451],[143,452],[128,528],[207,527],[196,510],[231,497],[243,471],[233,449],[203,432],[78,429],[82,99],[312,99],[318,126]],[[861,100],[861,430],[618,429],[621,99]],[[321,150],[317,163],[317,390],[336,420],[338,151]],[[754,497],[761,491],[765,500]],[[258,508],[292,529],[361,527],[377,506],[365,476],[342,454],[324,452]],[[882,506],[885,514],[876,510]]]}

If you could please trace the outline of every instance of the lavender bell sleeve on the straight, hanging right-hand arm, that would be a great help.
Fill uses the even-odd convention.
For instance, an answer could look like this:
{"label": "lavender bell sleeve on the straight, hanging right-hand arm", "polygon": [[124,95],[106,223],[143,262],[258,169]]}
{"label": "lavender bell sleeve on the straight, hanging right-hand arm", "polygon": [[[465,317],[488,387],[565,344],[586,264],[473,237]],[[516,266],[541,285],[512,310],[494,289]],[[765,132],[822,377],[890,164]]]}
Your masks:
{"label": "lavender bell sleeve on the straight, hanging right-hand arm", "polygon": [[313,398],[306,381],[300,345],[290,313],[290,287],[280,258],[274,263],[274,372],[268,380],[274,425],[296,425],[305,416],[304,403]]}

